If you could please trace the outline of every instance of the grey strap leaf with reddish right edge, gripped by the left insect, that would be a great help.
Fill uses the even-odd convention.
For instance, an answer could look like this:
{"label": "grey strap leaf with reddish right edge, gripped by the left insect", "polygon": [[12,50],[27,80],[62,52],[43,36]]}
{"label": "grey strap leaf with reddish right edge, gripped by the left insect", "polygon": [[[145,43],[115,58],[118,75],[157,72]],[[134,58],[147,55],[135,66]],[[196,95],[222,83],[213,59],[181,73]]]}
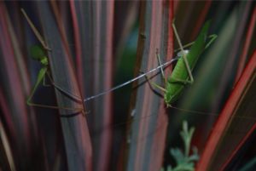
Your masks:
{"label": "grey strap leaf with reddish right edge, gripped by the left insect", "polygon": [[[63,90],[82,99],[58,8],[55,8],[55,2],[37,2],[36,4],[42,21],[45,42],[51,48],[48,51],[48,57],[53,81]],[[55,94],[59,106],[81,109],[79,112],[60,110],[68,170],[90,170],[92,151],[89,129],[82,113],[84,105],[61,91],[55,91]]]}

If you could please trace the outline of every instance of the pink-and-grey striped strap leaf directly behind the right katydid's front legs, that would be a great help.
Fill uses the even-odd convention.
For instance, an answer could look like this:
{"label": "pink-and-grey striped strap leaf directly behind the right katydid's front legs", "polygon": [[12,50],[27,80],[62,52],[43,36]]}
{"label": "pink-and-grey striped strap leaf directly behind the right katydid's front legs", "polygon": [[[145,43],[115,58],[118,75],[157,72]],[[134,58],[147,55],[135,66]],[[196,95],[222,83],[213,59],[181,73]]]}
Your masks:
{"label": "pink-and-grey striped strap leaf directly behind the right katydid's front legs", "polygon": [[[172,1],[143,1],[140,10],[139,39],[137,47],[137,66],[139,71],[149,71],[159,66],[160,60],[172,58]],[[165,59],[166,58],[166,59]],[[165,59],[165,60],[164,60]],[[161,77],[152,82],[160,84]],[[131,119],[127,138],[129,144],[126,170],[160,170],[165,150],[167,116],[164,101],[154,94],[145,80],[133,84],[139,86],[131,97]],[[150,116],[150,117],[148,117]]]}

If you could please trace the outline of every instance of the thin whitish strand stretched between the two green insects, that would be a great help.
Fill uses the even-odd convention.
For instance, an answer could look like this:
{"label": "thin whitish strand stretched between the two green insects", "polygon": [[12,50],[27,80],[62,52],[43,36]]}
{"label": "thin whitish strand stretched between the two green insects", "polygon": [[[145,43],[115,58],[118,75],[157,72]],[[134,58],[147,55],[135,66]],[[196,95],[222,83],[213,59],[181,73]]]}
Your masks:
{"label": "thin whitish strand stretched between the two green insects", "polygon": [[177,56],[176,56],[175,58],[173,58],[172,60],[169,60],[169,61],[167,61],[166,63],[164,63],[164,64],[162,64],[162,65],[160,65],[160,66],[157,66],[156,68],[154,68],[154,69],[152,69],[152,70],[150,70],[150,71],[147,71],[147,72],[145,72],[145,73],[143,73],[143,74],[141,74],[141,75],[139,75],[139,76],[137,76],[137,77],[134,77],[134,78],[132,78],[131,80],[125,82],[125,83],[121,83],[121,84],[119,84],[119,85],[117,85],[117,86],[115,86],[115,87],[113,87],[113,88],[110,88],[110,89],[108,89],[108,90],[106,90],[106,91],[103,91],[103,92],[100,93],[100,94],[96,94],[96,95],[90,96],[90,97],[88,97],[88,98],[85,98],[85,99],[84,99],[84,102],[89,101],[89,100],[96,99],[97,97],[100,97],[100,96],[102,96],[102,95],[104,95],[104,94],[108,94],[108,93],[110,93],[110,92],[112,92],[112,91],[114,91],[114,90],[116,90],[116,89],[118,89],[118,88],[122,88],[122,87],[124,87],[125,85],[127,85],[127,84],[129,84],[129,83],[132,83],[132,82],[134,82],[134,81],[136,81],[136,80],[138,80],[138,79],[140,79],[140,78],[142,78],[142,77],[145,77],[146,75],[148,75],[149,73],[151,73],[151,72],[153,72],[153,71],[156,71],[156,70],[158,70],[158,69],[162,70],[163,67],[169,66],[169,65],[172,64],[173,61],[178,60],[178,59],[180,58],[180,55],[181,55],[181,54],[178,53]]}

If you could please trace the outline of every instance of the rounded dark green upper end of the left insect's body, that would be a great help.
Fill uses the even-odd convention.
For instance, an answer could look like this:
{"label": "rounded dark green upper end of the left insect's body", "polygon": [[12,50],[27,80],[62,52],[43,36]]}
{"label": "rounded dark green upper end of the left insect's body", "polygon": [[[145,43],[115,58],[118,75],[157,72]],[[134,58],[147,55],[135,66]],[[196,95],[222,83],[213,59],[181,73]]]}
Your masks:
{"label": "rounded dark green upper end of the left insect's body", "polygon": [[42,65],[48,65],[48,59],[46,57],[46,53],[44,48],[38,45],[33,45],[30,49],[33,60],[39,60]]}

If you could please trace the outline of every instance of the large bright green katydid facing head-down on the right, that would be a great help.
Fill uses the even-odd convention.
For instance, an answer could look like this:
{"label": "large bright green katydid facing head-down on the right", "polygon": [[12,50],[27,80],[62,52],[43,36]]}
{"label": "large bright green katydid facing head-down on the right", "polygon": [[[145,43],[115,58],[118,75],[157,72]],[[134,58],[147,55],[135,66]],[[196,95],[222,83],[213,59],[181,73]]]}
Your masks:
{"label": "large bright green katydid facing head-down on the right", "polygon": [[[183,88],[187,83],[194,83],[194,78],[191,71],[194,69],[197,60],[199,59],[201,53],[207,49],[210,44],[217,38],[217,35],[207,36],[207,31],[210,26],[210,21],[202,27],[199,36],[196,38],[194,43],[189,43],[191,48],[188,51],[183,49],[183,45],[177,35],[177,30],[172,23],[173,31],[177,37],[177,43],[181,49],[182,57],[177,60],[177,64],[172,71],[172,75],[165,79],[166,87],[162,88],[156,83],[151,83],[155,88],[159,88],[164,92],[164,100],[167,106],[171,106],[175,102],[178,96],[183,92]],[[210,41],[207,43],[207,39]],[[158,55],[158,54],[157,54]],[[158,55],[160,61],[160,57]],[[163,73],[162,73],[163,74]],[[148,79],[148,78],[147,78]],[[149,82],[150,83],[150,82]]]}

